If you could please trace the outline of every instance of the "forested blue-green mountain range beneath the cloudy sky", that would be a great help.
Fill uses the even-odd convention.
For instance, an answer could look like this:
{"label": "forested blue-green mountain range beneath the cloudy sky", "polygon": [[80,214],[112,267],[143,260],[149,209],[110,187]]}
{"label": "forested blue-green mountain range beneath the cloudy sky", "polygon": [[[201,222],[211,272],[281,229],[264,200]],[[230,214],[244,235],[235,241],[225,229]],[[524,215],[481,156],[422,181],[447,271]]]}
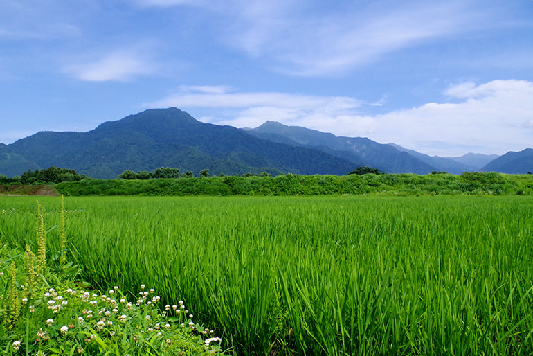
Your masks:
{"label": "forested blue-green mountain range beneath the cloudy sky", "polygon": [[108,121],[89,132],[38,132],[9,145],[0,144],[1,175],[13,177],[50,166],[102,179],[116,178],[125,170],[159,167],[195,173],[208,169],[213,175],[346,175],[359,166],[389,173],[525,173],[533,170],[533,150],[501,157],[431,157],[393,143],[334,136],[275,121],[254,129],[201,123],[172,107]]}

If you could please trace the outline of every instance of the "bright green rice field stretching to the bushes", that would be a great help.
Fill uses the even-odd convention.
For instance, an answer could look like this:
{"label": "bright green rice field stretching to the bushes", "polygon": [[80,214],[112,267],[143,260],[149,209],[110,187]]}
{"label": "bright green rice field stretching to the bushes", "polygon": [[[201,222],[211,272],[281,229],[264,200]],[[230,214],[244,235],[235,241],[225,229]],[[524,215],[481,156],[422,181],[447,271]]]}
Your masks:
{"label": "bright green rice field stretching to the bushes", "polygon": [[[35,200],[0,196],[1,244],[35,244]],[[533,354],[532,196],[64,201],[85,281],[182,299],[226,353]]]}

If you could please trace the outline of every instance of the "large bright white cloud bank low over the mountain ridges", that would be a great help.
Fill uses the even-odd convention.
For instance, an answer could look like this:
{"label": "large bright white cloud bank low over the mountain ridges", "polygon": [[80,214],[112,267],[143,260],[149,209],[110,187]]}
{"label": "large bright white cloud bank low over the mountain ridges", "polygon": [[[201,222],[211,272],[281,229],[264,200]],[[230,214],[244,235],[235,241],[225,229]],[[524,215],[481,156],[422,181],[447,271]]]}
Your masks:
{"label": "large bright white cloud bank low over the mountain ridges", "polygon": [[[308,127],[337,136],[365,136],[441,156],[467,152],[503,154],[533,142],[533,82],[494,80],[462,83],[445,94],[460,103],[426,103],[412,109],[364,116],[355,98],[287,93],[226,93],[168,96],[147,107],[204,107],[203,120],[235,127],[257,127],[267,120]],[[372,104],[368,104],[372,105]]]}

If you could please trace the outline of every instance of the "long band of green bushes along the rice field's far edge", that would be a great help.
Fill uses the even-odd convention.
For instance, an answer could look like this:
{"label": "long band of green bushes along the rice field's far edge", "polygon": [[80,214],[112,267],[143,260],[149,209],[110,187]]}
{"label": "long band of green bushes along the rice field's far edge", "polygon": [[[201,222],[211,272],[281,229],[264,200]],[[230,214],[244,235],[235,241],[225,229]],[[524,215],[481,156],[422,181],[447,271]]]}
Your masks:
{"label": "long band of green bushes along the rice field's far edge", "polygon": [[532,175],[495,172],[413,175],[278,175],[82,180],[57,184],[64,195],[531,195]]}

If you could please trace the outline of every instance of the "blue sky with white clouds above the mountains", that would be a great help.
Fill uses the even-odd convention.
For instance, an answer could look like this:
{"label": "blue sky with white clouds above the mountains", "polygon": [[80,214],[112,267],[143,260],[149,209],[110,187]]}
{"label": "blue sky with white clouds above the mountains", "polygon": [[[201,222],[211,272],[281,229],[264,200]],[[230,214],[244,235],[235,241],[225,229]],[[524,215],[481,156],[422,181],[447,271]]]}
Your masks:
{"label": "blue sky with white clouds above the mountains", "polygon": [[0,0],[0,142],[153,107],[426,154],[533,147],[532,0]]}

